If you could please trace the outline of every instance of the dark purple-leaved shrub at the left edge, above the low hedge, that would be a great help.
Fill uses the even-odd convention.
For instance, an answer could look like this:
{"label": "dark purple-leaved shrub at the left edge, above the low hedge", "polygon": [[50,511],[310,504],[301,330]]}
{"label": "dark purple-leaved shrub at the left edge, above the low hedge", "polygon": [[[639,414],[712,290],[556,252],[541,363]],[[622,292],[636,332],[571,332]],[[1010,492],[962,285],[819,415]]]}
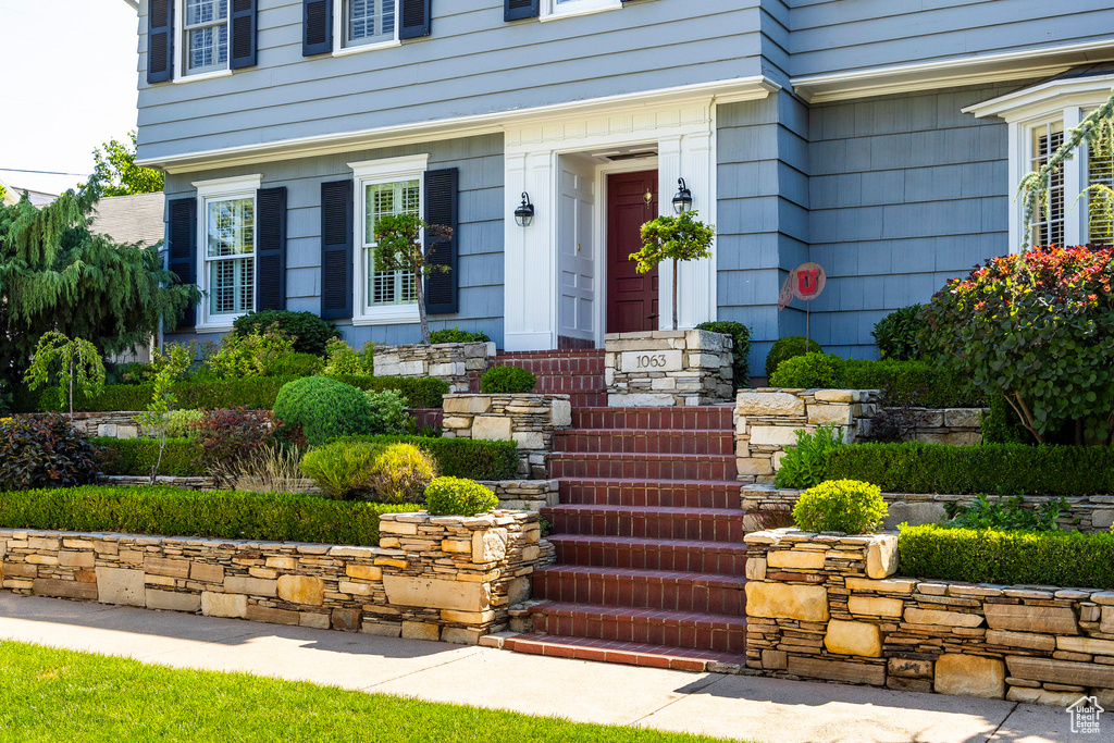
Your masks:
{"label": "dark purple-leaved shrub at the left edge, above the low hedge", "polygon": [[96,482],[99,473],[92,442],[66,419],[0,419],[0,491],[71,488]]}

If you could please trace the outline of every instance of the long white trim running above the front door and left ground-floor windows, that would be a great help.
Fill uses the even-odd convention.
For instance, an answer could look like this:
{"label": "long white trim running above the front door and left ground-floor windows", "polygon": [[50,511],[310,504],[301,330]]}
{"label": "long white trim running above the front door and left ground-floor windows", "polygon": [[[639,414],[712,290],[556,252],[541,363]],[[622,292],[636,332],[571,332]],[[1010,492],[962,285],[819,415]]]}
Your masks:
{"label": "long white trim running above the front door and left ground-floor windows", "polygon": [[704,101],[714,98],[716,102],[740,102],[744,100],[762,100],[771,92],[781,89],[776,82],[758,75],[731,80],[716,80],[697,85],[662,88],[643,92],[623,94],[593,98],[588,100],[538,106],[515,111],[498,111],[479,114],[433,121],[401,124],[389,127],[378,127],[359,131],[320,135],[282,139],[272,143],[227,147],[165,157],[148,157],[136,160],[136,165],[154,167],[169,174],[192,173],[206,168],[232,167],[237,165],[254,165],[275,159],[293,159],[319,155],[340,155],[358,149],[394,147],[411,144],[424,144],[439,139],[456,139],[459,137],[482,134],[499,134],[507,127],[517,126],[530,119],[545,120],[560,114],[614,111],[616,107],[641,109],[667,104],[683,105],[686,101]]}

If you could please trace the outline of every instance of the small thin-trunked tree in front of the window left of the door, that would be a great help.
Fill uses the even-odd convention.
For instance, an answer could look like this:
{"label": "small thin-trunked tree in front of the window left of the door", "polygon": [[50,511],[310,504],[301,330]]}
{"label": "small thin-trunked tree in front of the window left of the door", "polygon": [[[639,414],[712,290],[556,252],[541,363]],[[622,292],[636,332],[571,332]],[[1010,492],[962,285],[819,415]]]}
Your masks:
{"label": "small thin-trunked tree in front of the window left of the door", "polygon": [[[424,246],[422,229],[428,238]],[[431,341],[423,280],[431,273],[448,273],[449,266],[432,265],[430,258],[438,245],[451,238],[452,227],[427,224],[416,214],[391,214],[375,223],[375,271],[405,271],[413,276],[421,340],[426,345]]]}

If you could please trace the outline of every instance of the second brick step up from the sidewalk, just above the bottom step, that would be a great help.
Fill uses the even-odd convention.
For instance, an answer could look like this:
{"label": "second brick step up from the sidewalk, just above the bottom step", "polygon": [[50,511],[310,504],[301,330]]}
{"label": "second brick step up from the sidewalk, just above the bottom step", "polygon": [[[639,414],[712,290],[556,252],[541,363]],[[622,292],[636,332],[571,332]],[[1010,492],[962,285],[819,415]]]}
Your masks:
{"label": "second brick step up from the sidewalk, just above the bottom step", "polygon": [[534,630],[560,637],[746,652],[746,617],[551,602],[530,608]]}

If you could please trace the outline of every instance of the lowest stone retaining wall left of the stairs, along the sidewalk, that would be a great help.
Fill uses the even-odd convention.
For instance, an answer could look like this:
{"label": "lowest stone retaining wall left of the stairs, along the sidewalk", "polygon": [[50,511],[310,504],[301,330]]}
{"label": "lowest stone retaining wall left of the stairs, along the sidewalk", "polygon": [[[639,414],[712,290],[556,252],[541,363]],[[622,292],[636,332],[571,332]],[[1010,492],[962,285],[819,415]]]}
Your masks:
{"label": "lowest stone retaining wall left of the stairs, along the sidewalk", "polygon": [[390,637],[476,643],[529,597],[536,514],[388,514],[379,547],[0,529],[3,588]]}

